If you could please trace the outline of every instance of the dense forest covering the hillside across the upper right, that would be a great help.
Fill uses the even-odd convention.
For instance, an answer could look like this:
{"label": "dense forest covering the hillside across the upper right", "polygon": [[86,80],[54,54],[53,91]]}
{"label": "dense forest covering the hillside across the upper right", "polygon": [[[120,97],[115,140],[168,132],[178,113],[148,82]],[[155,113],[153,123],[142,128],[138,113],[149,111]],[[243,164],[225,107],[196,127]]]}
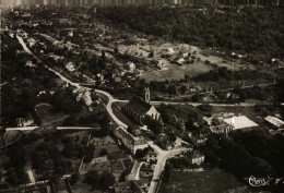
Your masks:
{"label": "dense forest covering the hillside across the upper right", "polygon": [[264,61],[284,56],[282,7],[114,7],[98,13],[120,27],[227,53],[255,55]]}

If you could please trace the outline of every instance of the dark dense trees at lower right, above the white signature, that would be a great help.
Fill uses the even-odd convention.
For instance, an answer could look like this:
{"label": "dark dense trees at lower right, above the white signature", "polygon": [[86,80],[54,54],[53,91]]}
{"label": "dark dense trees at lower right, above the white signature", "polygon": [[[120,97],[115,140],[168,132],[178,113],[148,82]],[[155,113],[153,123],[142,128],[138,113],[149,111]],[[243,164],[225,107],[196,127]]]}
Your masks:
{"label": "dark dense trees at lower right, above the white signature", "polygon": [[[210,135],[203,150],[206,162],[220,166],[237,177],[282,177],[283,143],[281,134],[270,135],[261,130],[237,131],[232,134],[232,138],[221,134]],[[273,192],[283,192],[281,183],[270,185]]]}

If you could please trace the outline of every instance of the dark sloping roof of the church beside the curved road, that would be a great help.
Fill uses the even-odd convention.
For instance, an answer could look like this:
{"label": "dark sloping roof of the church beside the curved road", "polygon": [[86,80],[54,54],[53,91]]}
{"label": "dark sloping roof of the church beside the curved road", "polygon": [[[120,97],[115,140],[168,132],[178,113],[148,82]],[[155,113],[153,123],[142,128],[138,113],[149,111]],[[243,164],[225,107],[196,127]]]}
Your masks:
{"label": "dark sloping roof of the church beside the curved road", "polygon": [[140,116],[144,116],[151,109],[152,105],[134,96],[126,105],[126,107],[131,111],[139,113]]}

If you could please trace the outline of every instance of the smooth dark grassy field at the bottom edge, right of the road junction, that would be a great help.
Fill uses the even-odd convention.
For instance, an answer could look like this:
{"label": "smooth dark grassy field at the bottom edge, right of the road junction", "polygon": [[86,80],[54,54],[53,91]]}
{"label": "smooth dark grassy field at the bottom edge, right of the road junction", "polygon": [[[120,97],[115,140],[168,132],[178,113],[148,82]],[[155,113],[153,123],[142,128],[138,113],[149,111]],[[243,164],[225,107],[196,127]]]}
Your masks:
{"label": "smooth dark grassy field at the bottom edge, right of the road junction", "polygon": [[[237,189],[237,190],[236,190]],[[174,172],[169,183],[162,183],[159,193],[249,192],[244,183],[221,169],[202,172]]]}

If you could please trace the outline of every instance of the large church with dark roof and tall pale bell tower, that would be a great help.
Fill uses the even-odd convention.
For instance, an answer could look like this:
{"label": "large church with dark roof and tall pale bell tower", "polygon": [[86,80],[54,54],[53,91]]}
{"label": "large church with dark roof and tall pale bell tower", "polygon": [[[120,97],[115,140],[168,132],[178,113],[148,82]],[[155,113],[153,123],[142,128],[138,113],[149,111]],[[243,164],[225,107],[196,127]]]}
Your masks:
{"label": "large church with dark roof and tall pale bell tower", "polygon": [[123,107],[125,112],[142,124],[143,118],[147,114],[156,121],[161,121],[161,114],[154,106],[150,104],[150,89],[144,89],[144,100],[133,96],[131,100]]}

